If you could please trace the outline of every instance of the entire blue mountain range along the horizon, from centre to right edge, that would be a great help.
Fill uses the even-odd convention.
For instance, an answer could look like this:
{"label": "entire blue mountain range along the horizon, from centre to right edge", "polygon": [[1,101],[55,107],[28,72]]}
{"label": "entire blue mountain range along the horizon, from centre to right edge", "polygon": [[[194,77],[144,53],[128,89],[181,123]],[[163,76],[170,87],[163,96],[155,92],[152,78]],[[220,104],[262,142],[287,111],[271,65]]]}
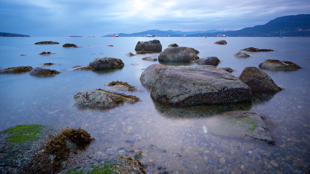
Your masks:
{"label": "entire blue mountain range along the horizon, from centre to right edge", "polygon": [[[216,35],[226,35],[228,37],[310,37],[310,14],[290,15],[278,17],[269,21],[264,25],[256,25],[254,27],[247,27],[236,31],[231,30],[208,30],[208,31],[172,31],[172,30],[148,30],[140,33],[118,33],[120,37],[157,35],[179,37],[186,35],[186,37],[215,37]],[[113,34],[115,35],[115,34]],[[110,35],[102,36],[109,37]]]}

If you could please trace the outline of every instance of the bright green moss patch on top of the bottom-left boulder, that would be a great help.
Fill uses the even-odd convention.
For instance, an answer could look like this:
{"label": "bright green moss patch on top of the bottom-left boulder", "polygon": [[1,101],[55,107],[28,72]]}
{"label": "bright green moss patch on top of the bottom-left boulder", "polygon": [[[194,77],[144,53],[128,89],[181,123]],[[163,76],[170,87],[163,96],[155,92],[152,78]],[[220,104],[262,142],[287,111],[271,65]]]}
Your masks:
{"label": "bright green moss patch on top of the bottom-left boulder", "polygon": [[6,139],[7,143],[20,145],[27,141],[38,140],[41,132],[42,125],[39,124],[18,125],[4,131],[4,133],[10,135]]}

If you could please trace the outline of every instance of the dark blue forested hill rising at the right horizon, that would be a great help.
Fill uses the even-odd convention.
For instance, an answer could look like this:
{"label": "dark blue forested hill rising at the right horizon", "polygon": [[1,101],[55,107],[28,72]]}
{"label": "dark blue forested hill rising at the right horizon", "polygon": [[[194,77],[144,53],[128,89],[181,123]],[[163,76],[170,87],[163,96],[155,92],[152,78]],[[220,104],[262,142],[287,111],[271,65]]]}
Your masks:
{"label": "dark blue forested hill rising at the right horizon", "polygon": [[310,14],[278,17],[264,25],[247,27],[237,31],[216,32],[212,34],[190,34],[187,37],[198,37],[207,34],[208,37],[224,34],[228,37],[310,37]]}

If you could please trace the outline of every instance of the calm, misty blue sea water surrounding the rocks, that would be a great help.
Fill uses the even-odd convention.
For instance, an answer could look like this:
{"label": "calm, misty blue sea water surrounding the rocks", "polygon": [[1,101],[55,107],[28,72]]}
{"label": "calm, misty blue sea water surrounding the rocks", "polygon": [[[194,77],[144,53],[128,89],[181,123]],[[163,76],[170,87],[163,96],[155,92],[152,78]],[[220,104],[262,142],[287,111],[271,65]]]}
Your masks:
{"label": "calm, misty blue sea water surrounding the rocks", "polygon": [[[251,104],[229,106],[168,107],[154,101],[149,89],[140,83],[143,70],[153,63],[141,58],[159,53],[135,54],[138,41],[145,37],[26,37],[0,38],[1,69],[17,66],[45,67],[60,71],[52,77],[28,73],[0,74],[0,130],[19,124],[43,124],[81,128],[95,138],[87,152],[95,161],[117,154],[134,157],[126,150],[141,150],[147,172],[172,173],[302,173],[310,163],[310,38],[262,37],[158,37],[163,50],[176,43],[198,50],[200,58],[216,56],[217,67],[230,67],[239,76],[246,66],[258,67],[266,59],[292,61],[297,71],[264,70],[283,88],[275,95],[255,98]],[[216,45],[225,39],[227,45]],[[57,45],[34,45],[38,41],[57,41]],[[63,48],[73,43],[79,48]],[[109,47],[108,45],[113,45]],[[232,54],[255,47],[273,52],[248,53],[249,58]],[[39,55],[50,51],[51,55]],[[21,56],[20,54],[25,54]],[[122,69],[108,71],[71,71],[73,66],[88,65],[96,57],[122,59]],[[55,63],[43,66],[43,63]],[[162,64],[185,64],[165,63]],[[186,63],[195,65],[195,63]],[[131,93],[142,101],[112,109],[78,109],[74,94],[90,89],[110,89],[111,81],[122,80],[137,86]],[[123,92],[123,91],[117,91]],[[130,94],[125,92],[126,94]],[[259,141],[224,136],[222,117],[241,112],[256,112],[264,118],[275,146]],[[214,126],[218,125],[218,126]],[[204,133],[203,127],[208,129]],[[126,140],[130,140],[126,141]],[[129,143],[128,143],[129,142]],[[161,166],[162,169],[157,169]],[[159,167],[160,168],[160,167]]]}

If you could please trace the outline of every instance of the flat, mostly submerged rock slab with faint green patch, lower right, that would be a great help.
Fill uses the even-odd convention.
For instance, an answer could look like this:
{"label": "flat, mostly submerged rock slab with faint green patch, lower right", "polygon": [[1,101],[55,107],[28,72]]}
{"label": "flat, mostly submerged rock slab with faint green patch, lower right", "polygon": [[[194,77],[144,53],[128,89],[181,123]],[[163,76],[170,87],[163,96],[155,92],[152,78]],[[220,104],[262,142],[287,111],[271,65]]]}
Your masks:
{"label": "flat, mostly submerged rock slab with faint green patch, lower right", "polygon": [[208,131],[219,135],[249,138],[267,144],[276,144],[270,137],[263,119],[256,113],[217,115],[210,118],[206,127]]}

